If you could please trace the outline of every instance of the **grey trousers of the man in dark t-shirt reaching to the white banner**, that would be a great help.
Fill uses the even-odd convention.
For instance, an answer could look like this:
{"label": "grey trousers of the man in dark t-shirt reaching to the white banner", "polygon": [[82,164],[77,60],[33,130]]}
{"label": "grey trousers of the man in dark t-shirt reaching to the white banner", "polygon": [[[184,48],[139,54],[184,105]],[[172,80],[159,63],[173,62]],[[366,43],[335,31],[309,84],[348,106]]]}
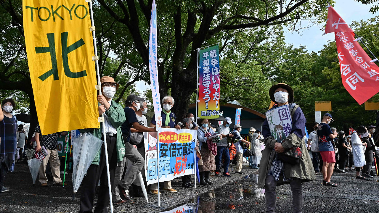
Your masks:
{"label": "grey trousers of the man in dark t-shirt reaching to the white banner", "polygon": [[[126,159],[132,161],[132,168],[124,174]],[[117,163],[116,174],[114,175],[114,182],[112,186],[112,199],[113,201],[120,201],[120,190],[117,186],[120,186],[124,190],[129,190],[130,185],[136,179],[139,172],[145,164],[144,158],[138,152],[136,148],[133,147],[130,143],[125,143],[125,156],[122,161]]]}

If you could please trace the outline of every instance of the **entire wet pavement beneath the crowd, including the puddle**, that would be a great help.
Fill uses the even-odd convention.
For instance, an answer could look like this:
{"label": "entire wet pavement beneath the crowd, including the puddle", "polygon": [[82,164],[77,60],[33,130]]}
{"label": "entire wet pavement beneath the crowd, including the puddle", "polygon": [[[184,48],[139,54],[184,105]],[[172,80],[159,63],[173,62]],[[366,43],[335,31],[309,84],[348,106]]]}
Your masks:
{"label": "entire wet pavement beneath the crowd, including the puddle", "polygon": [[[234,167],[234,165],[233,165]],[[174,212],[174,213],[236,213],[265,212],[264,190],[257,188],[258,170],[245,167],[245,174],[230,171],[231,178],[211,177],[213,185],[182,188],[179,179],[172,181],[178,193],[161,194],[161,206],[157,196],[149,195],[149,204],[143,197],[114,206],[114,212]],[[32,186],[27,165],[16,164],[16,172],[9,174],[6,193],[0,194],[1,213],[71,213],[78,212],[80,189],[72,200],[71,175],[66,176],[68,186],[61,188]],[[355,179],[355,172],[335,173],[332,181],[338,187],[323,186],[322,175],[317,180],[303,183],[304,213],[315,212],[379,212],[379,178]],[[52,184],[51,182],[49,184]],[[96,203],[96,200],[95,200]],[[292,193],[289,185],[277,186],[277,213],[292,211]]]}

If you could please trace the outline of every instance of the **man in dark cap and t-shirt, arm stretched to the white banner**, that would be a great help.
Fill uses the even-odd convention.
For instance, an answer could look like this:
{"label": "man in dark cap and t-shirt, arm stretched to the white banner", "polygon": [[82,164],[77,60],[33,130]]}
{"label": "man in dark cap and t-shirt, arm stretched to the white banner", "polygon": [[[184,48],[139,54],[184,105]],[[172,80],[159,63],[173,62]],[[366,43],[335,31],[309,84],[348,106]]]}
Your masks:
{"label": "man in dark cap and t-shirt, arm stretched to the white banner", "polygon": [[[138,173],[141,172],[141,169],[145,163],[144,158],[138,152],[137,147],[130,144],[130,127],[133,126],[133,128],[140,132],[156,132],[155,127],[144,127],[138,123],[135,112],[141,108],[141,102],[143,101],[143,98],[134,94],[128,96],[126,99],[127,107],[124,108],[126,121],[121,125],[122,137],[124,138],[125,143],[125,157],[120,163],[117,164],[112,187],[113,200],[131,199],[129,195],[129,187],[136,179]],[[124,173],[126,159],[132,161],[133,165],[130,172],[125,173],[124,178],[121,179],[122,174]]]}

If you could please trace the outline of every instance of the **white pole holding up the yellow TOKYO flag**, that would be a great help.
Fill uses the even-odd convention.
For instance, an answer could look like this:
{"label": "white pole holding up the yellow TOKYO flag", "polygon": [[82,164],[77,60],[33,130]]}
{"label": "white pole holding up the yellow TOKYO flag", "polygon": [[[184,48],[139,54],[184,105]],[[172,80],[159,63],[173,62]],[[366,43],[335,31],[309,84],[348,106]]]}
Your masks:
{"label": "white pole holding up the yellow TOKYO flag", "polygon": [[[93,10],[92,10],[92,1],[86,0],[86,2],[89,2],[89,10],[91,11],[91,28],[92,31],[92,38],[94,41],[94,50],[95,50],[95,56],[92,57],[92,60],[96,63],[96,72],[97,72],[97,86],[96,89],[99,90],[99,94],[101,94],[101,83],[100,83],[100,73],[99,73],[99,56],[97,56],[97,44],[96,44],[96,36],[95,36],[95,24],[94,24],[94,17],[93,17]],[[101,115],[100,122],[104,122],[104,113]],[[105,125],[103,126],[103,138],[104,138],[104,152],[105,152],[105,165],[106,165],[106,175],[108,177],[108,192],[109,192],[109,201],[111,206],[111,213],[113,213],[113,202],[112,202],[112,193],[111,193],[111,177],[109,173],[109,163],[108,163],[108,147],[106,147],[106,130]],[[103,183],[102,183],[103,184]]]}

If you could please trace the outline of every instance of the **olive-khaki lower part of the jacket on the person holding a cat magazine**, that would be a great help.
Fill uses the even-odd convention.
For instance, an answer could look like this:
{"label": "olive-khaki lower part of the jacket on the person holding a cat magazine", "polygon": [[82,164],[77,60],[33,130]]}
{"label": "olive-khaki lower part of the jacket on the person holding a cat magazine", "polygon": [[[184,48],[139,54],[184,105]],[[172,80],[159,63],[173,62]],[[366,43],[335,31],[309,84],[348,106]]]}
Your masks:
{"label": "olive-khaki lower part of the jacket on the person holding a cat magazine", "polygon": [[[262,159],[260,161],[260,169],[258,176],[258,188],[264,188],[266,182],[266,174],[269,171],[271,164],[275,157],[274,146],[277,141],[272,137],[265,138],[266,148],[262,151]],[[312,160],[310,159],[307,148],[305,147],[304,140],[301,140],[296,134],[292,133],[283,141],[282,146],[288,150],[292,147],[299,147],[301,144],[302,156],[300,162],[297,164],[284,163],[285,177],[298,178],[301,182],[308,182],[316,180],[316,174],[313,169]],[[277,185],[288,184],[290,182],[283,182],[283,175],[280,175]]]}

